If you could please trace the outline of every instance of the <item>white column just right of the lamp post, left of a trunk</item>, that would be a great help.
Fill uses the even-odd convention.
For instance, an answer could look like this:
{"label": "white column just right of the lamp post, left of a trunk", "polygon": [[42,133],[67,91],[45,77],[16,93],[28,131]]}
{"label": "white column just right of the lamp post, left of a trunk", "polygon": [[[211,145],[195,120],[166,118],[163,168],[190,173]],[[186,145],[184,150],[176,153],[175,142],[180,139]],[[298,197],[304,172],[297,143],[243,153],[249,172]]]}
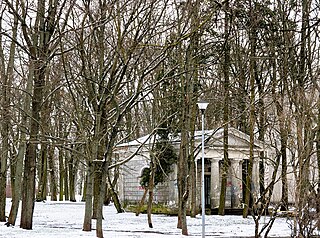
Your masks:
{"label": "white column just right of the lamp post, left of a trunk", "polygon": [[210,187],[211,208],[219,207],[219,200],[220,200],[219,161],[220,161],[219,158],[211,159],[211,187]]}

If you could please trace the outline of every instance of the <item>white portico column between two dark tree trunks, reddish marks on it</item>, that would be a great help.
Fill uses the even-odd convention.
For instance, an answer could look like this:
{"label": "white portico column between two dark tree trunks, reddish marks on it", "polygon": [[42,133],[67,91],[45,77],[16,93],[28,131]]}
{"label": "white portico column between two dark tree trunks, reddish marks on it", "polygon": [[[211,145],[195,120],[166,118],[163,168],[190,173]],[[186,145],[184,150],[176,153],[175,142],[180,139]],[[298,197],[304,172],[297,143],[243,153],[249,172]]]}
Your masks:
{"label": "white portico column between two dark tree trunks, reddish marks on it", "polygon": [[242,199],[242,160],[231,159],[231,207],[240,206]]}

